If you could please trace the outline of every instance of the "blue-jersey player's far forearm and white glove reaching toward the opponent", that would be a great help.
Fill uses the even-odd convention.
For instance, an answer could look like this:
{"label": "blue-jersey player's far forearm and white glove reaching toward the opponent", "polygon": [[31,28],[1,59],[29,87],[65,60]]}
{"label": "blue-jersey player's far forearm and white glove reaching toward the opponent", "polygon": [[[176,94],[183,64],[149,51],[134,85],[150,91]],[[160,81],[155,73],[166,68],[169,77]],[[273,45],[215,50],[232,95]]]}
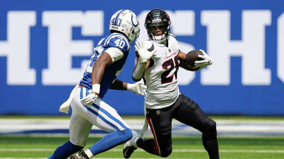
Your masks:
{"label": "blue-jersey player's far forearm and white glove reaching toward the opponent", "polygon": [[113,84],[109,87],[111,90],[129,90],[137,95],[146,96],[146,89],[147,87],[144,85],[143,82],[137,83],[126,83],[121,80],[115,79]]}

